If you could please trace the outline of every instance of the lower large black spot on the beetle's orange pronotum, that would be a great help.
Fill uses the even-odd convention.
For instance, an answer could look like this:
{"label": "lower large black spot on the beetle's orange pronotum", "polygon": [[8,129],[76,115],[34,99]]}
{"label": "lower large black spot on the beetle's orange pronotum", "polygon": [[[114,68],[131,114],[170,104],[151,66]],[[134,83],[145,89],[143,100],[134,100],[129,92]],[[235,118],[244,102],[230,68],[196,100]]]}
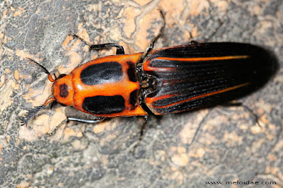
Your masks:
{"label": "lower large black spot on the beetle's orange pronotum", "polygon": [[125,110],[125,100],[121,95],[94,96],[83,100],[83,109],[93,114],[113,114]]}

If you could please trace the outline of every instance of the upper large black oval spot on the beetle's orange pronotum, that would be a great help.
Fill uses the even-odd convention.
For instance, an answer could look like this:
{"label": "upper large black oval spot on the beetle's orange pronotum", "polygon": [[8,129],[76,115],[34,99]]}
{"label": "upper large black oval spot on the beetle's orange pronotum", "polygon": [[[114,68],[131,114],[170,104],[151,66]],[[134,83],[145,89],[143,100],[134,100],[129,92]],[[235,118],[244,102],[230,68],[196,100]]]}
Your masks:
{"label": "upper large black oval spot on the beetle's orange pronotum", "polygon": [[93,64],[81,71],[81,81],[89,86],[114,83],[122,78],[122,66],[117,62]]}

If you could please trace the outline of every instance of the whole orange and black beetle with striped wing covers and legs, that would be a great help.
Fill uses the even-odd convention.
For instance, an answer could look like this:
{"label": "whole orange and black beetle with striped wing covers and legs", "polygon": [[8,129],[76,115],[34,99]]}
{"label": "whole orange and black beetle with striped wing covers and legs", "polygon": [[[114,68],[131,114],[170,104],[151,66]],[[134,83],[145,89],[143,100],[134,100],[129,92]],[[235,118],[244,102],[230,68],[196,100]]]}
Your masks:
{"label": "whole orange and black beetle with striped wing covers and legs", "polygon": [[116,47],[117,52],[88,61],[57,78],[28,59],[53,82],[52,97],[29,110],[21,125],[53,101],[96,115],[95,119],[67,117],[64,122],[88,123],[101,122],[105,117],[147,117],[148,111],[162,115],[212,107],[252,93],[277,69],[269,51],[244,43],[191,42],[153,49],[161,33],[146,52],[136,54],[125,54],[124,48],[115,43],[90,45],[71,34],[90,49]]}

